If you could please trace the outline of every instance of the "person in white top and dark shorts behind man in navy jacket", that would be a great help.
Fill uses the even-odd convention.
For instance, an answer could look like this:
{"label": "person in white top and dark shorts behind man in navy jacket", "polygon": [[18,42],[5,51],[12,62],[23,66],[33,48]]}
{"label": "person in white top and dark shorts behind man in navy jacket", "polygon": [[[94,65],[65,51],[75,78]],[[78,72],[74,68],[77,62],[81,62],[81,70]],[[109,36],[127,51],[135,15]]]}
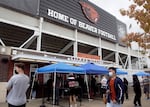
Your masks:
{"label": "person in white top and dark shorts behind man in navy jacket", "polygon": [[104,75],[101,80],[101,93],[103,97],[103,102],[106,104],[106,90],[107,90],[107,78]]}

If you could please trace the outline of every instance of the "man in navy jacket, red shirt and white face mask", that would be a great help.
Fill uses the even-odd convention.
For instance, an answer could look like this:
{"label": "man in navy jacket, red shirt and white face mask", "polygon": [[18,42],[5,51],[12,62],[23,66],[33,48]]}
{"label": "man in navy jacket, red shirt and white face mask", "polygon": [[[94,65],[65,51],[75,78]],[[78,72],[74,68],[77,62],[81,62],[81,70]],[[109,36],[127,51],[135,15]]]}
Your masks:
{"label": "man in navy jacket, red shirt and white face mask", "polygon": [[106,92],[106,107],[122,107],[124,101],[124,85],[122,80],[116,76],[116,68],[109,68],[109,76]]}

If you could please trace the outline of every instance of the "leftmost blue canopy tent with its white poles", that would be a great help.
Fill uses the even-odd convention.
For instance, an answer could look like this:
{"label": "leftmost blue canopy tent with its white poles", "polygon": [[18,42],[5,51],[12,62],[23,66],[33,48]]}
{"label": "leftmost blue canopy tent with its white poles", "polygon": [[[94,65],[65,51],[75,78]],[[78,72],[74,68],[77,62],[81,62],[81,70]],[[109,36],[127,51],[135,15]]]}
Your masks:
{"label": "leftmost blue canopy tent with its white poles", "polygon": [[[35,75],[45,74],[45,73],[54,73],[54,88],[53,88],[53,104],[54,104],[55,103],[56,73],[85,74],[85,70],[80,67],[75,67],[75,66],[60,62],[57,64],[51,64],[51,65],[38,68],[35,72]],[[35,75],[34,75],[34,79],[35,79]],[[32,89],[33,89],[33,83],[32,83]],[[32,90],[31,90],[31,93],[32,93]],[[31,94],[30,94],[30,98],[31,98]]]}

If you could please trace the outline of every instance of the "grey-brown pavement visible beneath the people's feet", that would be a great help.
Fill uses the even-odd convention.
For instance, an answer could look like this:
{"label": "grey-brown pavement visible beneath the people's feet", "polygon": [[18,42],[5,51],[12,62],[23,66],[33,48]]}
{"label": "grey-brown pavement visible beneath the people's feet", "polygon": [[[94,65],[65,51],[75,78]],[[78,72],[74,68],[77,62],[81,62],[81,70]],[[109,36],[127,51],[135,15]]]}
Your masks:
{"label": "grey-brown pavement visible beneath the people's feet", "polygon": [[[133,105],[133,98],[134,94],[130,93],[129,100],[125,100],[123,107],[134,107]],[[142,107],[150,107],[150,100],[146,100],[145,95],[142,95],[141,98]],[[26,107],[40,107],[42,104],[42,99],[35,99],[31,100],[27,103]],[[46,107],[69,107],[68,101],[61,101],[60,106],[53,106],[52,104],[46,102]],[[7,107],[7,103],[0,103],[0,107]],[[105,104],[102,102],[101,99],[95,99],[92,101],[88,101],[87,99],[84,99],[81,103],[78,102],[78,107],[105,107]]]}

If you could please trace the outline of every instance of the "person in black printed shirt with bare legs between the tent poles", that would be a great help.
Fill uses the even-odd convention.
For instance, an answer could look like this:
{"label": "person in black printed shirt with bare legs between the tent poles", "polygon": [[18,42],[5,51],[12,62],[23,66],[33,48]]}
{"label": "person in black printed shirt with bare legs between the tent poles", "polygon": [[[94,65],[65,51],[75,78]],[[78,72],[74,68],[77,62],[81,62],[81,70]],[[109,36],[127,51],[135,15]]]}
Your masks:
{"label": "person in black printed shirt with bare legs between the tent poles", "polygon": [[70,74],[68,77],[68,86],[70,90],[70,96],[69,96],[69,101],[70,101],[70,107],[77,107],[77,102],[76,102],[76,80],[73,74]]}

